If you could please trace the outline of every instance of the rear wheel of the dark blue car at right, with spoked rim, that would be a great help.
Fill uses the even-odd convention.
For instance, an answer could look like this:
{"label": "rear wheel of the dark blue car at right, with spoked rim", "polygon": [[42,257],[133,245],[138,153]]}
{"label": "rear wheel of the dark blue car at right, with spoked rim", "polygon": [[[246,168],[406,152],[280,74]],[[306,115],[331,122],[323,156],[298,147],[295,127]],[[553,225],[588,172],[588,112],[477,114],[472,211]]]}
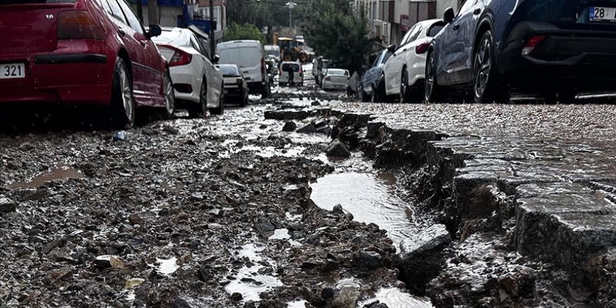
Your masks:
{"label": "rear wheel of the dark blue car at right, with spoked rim", "polygon": [[472,92],[475,94],[475,103],[509,102],[508,89],[500,80],[494,60],[495,50],[492,32],[485,31],[479,38],[472,62]]}

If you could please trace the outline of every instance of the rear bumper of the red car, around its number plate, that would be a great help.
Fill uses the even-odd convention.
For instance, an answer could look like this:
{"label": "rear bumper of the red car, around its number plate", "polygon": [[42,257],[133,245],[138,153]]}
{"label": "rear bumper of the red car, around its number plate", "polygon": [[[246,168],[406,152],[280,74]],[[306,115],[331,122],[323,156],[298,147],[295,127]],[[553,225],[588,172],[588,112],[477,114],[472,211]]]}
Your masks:
{"label": "rear bumper of the red car, around its number plate", "polygon": [[109,105],[116,55],[105,47],[74,43],[52,53],[0,55],[0,68],[25,64],[25,78],[0,79],[0,104]]}

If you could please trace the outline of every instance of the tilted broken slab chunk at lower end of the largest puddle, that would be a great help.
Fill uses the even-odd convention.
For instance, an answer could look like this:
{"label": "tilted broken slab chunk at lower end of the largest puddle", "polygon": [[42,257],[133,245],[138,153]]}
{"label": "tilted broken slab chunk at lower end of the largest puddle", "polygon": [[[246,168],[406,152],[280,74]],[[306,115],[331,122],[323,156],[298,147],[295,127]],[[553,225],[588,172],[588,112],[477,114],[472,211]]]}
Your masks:
{"label": "tilted broken slab chunk at lower end of the largest puddle", "polygon": [[400,276],[409,288],[425,290],[444,267],[444,248],[451,235],[444,225],[432,225],[413,239],[400,242]]}

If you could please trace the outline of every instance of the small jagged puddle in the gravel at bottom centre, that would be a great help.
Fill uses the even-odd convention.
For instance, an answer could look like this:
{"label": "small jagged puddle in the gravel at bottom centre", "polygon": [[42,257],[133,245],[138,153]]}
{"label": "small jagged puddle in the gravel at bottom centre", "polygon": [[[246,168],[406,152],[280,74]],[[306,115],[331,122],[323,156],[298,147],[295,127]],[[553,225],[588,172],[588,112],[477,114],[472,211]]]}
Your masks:
{"label": "small jagged puddle in the gravel at bottom centre", "polygon": [[[258,255],[258,252],[262,249],[255,247],[253,244],[247,244],[241,246],[241,248],[241,251],[239,251],[241,257],[246,256],[251,262],[262,261],[263,258]],[[243,302],[248,302],[249,300],[260,302],[260,293],[267,292],[271,288],[283,286],[283,283],[277,277],[259,274],[260,269],[263,268],[265,267],[258,264],[251,267],[242,267],[237,272],[237,275],[235,275],[237,279],[232,280],[225,286],[225,290],[229,294],[240,293],[243,297]]]}

